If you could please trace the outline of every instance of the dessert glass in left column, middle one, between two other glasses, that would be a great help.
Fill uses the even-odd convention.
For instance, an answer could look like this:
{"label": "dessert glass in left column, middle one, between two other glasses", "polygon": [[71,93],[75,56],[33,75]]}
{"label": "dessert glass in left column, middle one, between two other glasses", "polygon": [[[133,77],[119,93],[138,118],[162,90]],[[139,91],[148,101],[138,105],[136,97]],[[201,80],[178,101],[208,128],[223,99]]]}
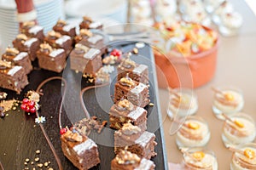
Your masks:
{"label": "dessert glass in left column, middle one, between two other glasses", "polygon": [[200,116],[183,117],[181,127],[176,133],[176,144],[179,149],[203,147],[211,138],[208,124]]}

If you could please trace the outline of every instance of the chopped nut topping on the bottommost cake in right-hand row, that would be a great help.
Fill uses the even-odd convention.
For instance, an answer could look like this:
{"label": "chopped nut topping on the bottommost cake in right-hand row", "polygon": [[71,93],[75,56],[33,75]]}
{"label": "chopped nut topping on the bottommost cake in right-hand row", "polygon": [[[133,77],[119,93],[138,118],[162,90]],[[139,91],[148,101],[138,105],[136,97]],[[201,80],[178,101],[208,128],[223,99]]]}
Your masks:
{"label": "chopped nut topping on the bottommost cake in right-hand row", "polygon": [[119,164],[137,164],[141,161],[139,156],[127,150],[120,151],[115,159]]}

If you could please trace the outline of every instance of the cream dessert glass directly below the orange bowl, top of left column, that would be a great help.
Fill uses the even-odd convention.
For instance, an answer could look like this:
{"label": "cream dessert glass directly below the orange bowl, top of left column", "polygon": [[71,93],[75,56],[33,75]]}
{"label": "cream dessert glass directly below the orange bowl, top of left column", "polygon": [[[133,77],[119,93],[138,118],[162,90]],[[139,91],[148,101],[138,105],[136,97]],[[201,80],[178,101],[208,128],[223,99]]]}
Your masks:
{"label": "cream dessert glass directly below the orange bowl, top of left column", "polygon": [[196,94],[189,88],[174,88],[170,90],[170,99],[167,108],[168,116],[176,119],[195,115],[198,110]]}

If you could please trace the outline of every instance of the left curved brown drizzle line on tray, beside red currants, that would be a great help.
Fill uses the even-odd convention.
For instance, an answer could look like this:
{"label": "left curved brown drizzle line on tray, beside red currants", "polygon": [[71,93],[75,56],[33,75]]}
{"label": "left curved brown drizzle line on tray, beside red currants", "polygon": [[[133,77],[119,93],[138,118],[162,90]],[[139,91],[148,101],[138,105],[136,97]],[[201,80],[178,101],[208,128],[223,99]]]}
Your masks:
{"label": "left curved brown drizzle line on tray, beside red currants", "polygon": [[[63,91],[63,95],[62,95],[62,99],[61,99],[61,105],[60,105],[60,110],[59,110],[59,127],[61,129],[61,111],[62,111],[62,106],[63,106],[63,101],[65,99],[65,96],[66,96],[66,91],[67,91],[67,81],[62,78],[62,77],[49,77],[48,79],[44,80],[43,82],[41,82],[39,85],[38,85],[38,88],[36,90],[36,92],[38,94],[41,94],[40,93],[40,90],[41,88],[44,86],[44,84],[46,84],[47,82],[50,82],[52,80],[61,80],[62,82],[64,82],[64,91]],[[36,111],[36,116],[38,117],[39,114],[38,114],[38,111]],[[58,167],[60,170],[63,170],[63,167],[61,165],[61,160],[59,158],[59,156],[57,155],[56,151],[55,151],[55,147],[53,146],[53,144],[51,143],[50,139],[49,139],[49,136],[47,135],[47,133],[45,132],[45,129],[44,129],[44,126],[42,123],[39,123],[39,126],[42,130],[42,132],[44,133],[44,137],[45,139],[47,140],[47,143],[49,144],[49,147],[50,147],[50,150],[53,152],[54,156],[55,156],[55,160],[57,161],[57,164],[58,164]]]}

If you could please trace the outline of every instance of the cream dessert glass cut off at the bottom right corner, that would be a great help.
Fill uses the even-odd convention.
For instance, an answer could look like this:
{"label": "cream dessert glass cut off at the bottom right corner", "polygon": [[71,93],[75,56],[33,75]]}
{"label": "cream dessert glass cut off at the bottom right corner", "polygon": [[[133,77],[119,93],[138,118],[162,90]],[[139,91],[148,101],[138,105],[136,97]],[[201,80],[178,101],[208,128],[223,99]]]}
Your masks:
{"label": "cream dessert glass cut off at the bottom right corner", "polygon": [[256,169],[256,144],[247,143],[236,146],[240,150],[233,153],[230,170]]}

